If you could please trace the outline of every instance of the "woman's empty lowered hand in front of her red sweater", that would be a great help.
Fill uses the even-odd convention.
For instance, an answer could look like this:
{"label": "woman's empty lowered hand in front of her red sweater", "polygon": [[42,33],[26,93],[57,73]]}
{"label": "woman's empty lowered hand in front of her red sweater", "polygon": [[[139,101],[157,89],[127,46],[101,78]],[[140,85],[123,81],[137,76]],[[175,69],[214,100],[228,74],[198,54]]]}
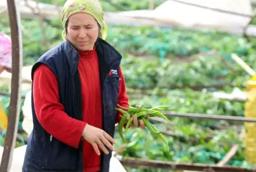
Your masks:
{"label": "woman's empty lowered hand in front of her red sweater", "polygon": [[100,150],[98,149],[98,146],[105,154],[109,154],[109,151],[107,151],[107,148],[105,146],[114,151],[114,147],[112,146],[111,142],[114,144],[116,143],[116,141],[112,139],[112,137],[108,133],[100,128],[96,128],[87,124],[83,129],[82,136],[83,139],[87,140],[87,142],[92,145],[97,155],[100,155]]}

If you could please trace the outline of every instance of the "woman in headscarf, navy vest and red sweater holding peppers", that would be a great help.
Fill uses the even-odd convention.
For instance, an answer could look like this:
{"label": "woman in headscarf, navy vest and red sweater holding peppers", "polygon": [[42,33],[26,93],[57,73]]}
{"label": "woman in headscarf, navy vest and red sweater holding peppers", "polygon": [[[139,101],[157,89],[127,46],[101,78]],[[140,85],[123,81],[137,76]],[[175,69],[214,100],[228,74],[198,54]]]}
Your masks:
{"label": "woman in headscarf, navy vest and red sweater holding peppers", "polygon": [[[109,171],[116,106],[128,107],[122,55],[104,41],[107,26],[98,0],[63,6],[65,41],[32,67],[34,128],[23,172]],[[145,128],[142,120],[134,126]]]}

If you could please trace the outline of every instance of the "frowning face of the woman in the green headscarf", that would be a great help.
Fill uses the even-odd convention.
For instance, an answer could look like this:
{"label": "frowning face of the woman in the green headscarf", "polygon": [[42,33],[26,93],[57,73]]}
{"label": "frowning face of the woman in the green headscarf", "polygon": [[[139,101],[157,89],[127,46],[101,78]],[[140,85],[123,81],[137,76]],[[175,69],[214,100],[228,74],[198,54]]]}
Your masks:
{"label": "frowning face of the woman in the green headscarf", "polygon": [[67,38],[77,50],[92,50],[98,34],[98,23],[92,15],[81,12],[69,17]]}

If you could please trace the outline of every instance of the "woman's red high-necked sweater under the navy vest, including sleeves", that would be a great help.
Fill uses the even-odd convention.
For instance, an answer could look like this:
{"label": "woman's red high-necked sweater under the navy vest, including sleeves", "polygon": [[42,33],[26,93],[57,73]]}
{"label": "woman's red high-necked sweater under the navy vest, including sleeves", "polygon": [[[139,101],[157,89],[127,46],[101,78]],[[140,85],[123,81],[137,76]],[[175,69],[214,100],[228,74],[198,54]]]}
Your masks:
{"label": "woman's red high-necked sweater under the navy vest, including sleeves", "polygon": [[[81,79],[83,121],[72,119],[59,102],[58,82],[54,73],[41,64],[34,73],[34,106],[41,126],[54,138],[78,148],[81,133],[86,124],[102,129],[103,111],[101,100],[100,73],[96,50],[80,52],[78,71]],[[120,92],[118,104],[128,107],[125,81],[120,68]],[[42,84],[43,83],[43,84]],[[120,113],[116,122],[121,119]],[[83,172],[100,171],[101,158],[96,155],[91,144],[83,141]]]}

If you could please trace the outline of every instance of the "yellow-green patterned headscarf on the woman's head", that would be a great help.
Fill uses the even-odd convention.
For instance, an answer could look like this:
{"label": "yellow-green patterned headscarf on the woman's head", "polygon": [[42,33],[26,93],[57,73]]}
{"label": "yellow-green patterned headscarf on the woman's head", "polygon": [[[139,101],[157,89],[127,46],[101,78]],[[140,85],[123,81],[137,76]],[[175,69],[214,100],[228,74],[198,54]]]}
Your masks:
{"label": "yellow-green patterned headscarf on the woman's head", "polygon": [[70,15],[85,12],[87,14],[91,14],[94,19],[100,25],[100,38],[106,39],[107,37],[107,25],[105,24],[103,17],[103,10],[100,1],[98,0],[67,0],[62,10],[62,24],[64,27],[62,37],[65,39],[66,37],[66,23],[69,19]]}

